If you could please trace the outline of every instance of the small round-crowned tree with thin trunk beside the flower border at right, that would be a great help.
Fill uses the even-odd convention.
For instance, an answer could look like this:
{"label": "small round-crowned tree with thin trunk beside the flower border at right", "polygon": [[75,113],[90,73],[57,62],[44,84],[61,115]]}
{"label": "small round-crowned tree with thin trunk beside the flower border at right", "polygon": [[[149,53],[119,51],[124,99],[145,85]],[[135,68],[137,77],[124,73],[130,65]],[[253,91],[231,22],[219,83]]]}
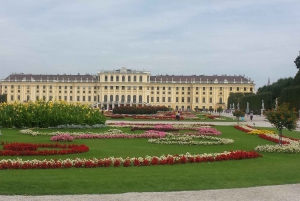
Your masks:
{"label": "small round-crowned tree with thin trunk beside the flower border at right", "polygon": [[295,130],[297,127],[297,112],[295,109],[289,109],[289,103],[282,103],[277,110],[270,110],[266,113],[266,117],[271,124],[279,131],[279,145],[282,145],[282,129],[289,131]]}

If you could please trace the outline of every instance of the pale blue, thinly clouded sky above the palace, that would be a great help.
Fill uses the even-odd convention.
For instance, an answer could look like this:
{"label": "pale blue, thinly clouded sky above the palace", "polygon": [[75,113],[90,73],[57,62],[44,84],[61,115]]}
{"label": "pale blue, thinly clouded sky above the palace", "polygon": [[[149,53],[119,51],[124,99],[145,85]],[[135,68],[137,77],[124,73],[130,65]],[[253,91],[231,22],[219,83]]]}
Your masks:
{"label": "pale blue, thinly clouded sky above the palace", "polygon": [[12,73],[294,77],[299,0],[2,0],[0,79]]}

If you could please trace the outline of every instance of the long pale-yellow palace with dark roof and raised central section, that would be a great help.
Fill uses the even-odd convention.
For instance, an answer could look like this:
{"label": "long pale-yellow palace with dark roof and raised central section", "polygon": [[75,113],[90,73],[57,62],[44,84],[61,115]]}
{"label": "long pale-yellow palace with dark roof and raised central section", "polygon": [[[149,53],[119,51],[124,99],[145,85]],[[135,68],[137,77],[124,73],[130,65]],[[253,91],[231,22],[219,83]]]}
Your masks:
{"label": "long pale-yellow palace with dark roof and raised central section", "polygon": [[254,81],[229,75],[151,75],[149,71],[102,70],[96,75],[11,74],[0,82],[7,102],[44,99],[113,109],[164,105],[173,109],[227,108],[231,92],[254,92]]}

